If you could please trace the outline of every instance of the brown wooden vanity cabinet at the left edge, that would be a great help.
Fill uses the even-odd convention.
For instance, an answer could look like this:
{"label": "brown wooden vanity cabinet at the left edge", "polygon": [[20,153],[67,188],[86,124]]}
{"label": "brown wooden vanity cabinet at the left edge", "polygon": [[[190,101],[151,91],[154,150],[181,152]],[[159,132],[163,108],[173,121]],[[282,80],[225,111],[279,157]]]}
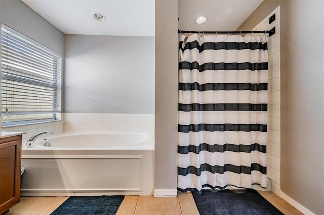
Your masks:
{"label": "brown wooden vanity cabinet at the left edge", "polygon": [[0,136],[0,214],[20,201],[21,135]]}

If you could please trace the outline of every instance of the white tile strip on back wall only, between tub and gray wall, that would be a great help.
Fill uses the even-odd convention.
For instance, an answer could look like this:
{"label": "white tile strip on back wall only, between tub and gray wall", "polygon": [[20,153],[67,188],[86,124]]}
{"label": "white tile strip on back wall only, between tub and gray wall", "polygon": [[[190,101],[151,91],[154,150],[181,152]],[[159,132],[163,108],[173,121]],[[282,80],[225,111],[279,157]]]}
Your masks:
{"label": "white tile strip on back wall only, between tub and gray wall", "polygon": [[126,131],[154,134],[154,114],[64,114],[64,131]]}

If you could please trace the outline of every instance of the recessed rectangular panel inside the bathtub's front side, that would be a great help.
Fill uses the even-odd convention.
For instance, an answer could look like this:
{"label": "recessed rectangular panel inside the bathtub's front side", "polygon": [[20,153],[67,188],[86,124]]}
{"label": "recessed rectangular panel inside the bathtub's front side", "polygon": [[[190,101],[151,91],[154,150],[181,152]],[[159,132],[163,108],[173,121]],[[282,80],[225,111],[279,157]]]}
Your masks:
{"label": "recessed rectangular panel inside the bathtub's front side", "polygon": [[23,159],[23,165],[22,190],[140,190],[140,158]]}

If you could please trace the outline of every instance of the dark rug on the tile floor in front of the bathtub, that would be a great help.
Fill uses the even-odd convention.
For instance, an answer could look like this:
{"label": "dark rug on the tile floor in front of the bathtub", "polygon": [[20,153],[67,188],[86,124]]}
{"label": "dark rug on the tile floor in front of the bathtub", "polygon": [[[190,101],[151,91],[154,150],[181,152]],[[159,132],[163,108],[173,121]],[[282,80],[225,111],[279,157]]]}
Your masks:
{"label": "dark rug on the tile floor in front of the bathtub", "polygon": [[71,196],[51,215],[116,214],[125,196]]}

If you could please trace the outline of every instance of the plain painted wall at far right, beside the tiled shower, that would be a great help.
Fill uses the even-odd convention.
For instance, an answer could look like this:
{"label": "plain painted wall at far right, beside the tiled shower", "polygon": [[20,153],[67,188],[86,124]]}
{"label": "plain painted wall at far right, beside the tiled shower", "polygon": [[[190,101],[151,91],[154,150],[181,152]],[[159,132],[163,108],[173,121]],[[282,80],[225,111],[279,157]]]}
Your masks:
{"label": "plain painted wall at far right, beside the tiled shower", "polygon": [[265,0],[239,29],[251,29],[279,5],[280,188],[324,214],[324,2]]}

